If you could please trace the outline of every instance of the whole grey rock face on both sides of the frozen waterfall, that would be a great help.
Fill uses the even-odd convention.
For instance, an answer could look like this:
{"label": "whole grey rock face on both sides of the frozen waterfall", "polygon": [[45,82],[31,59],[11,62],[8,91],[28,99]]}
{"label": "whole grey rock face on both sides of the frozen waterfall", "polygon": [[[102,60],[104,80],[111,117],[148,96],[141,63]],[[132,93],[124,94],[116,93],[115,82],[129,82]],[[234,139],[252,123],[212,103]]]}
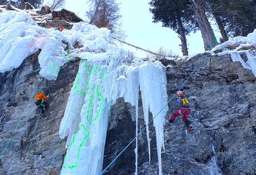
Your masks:
{"label": "whole grey rock face on both sides of the frozen waterfall", "polygon": [[[65,111],[78,63],[64,65],[56,81],[40,78],[38,53],[13,71],[0,74],[0,174],[59,174],[65,140],[59,124]],[[187,62],[163,61],[168,65],[169,99],[182,88],[191,105],[194,130],[187,132],[178,117],[164,129],[163,174],[255,174],[256,173],[256,82],[250,70],[229,56],[197,55]],[[193,70],[195,70],[193,72]],[[38,118],[34,94],[51,92],[47,118]],[[175,100],[174,100],[175,101]],[[170,115],[179,109],[168,104]],[[117,100],[112,107],[104,151],[104,168],[135,137],[135,108]],[[152,115],[150,116],[152,119]],[[139,100],[139,130],[145,127]],[[138,138],[139,174],[158,174],[156,135],[150,125],[151,164],[146,131]],[[57,149],[58,147],[58,149]],[[135,172],[135,142],[114,162],[106,174]],[[55,155],[55,151],[57,151]],[[3,157],[2,157],[3,155]],[[54,158],[54,160],[53,160]]]}

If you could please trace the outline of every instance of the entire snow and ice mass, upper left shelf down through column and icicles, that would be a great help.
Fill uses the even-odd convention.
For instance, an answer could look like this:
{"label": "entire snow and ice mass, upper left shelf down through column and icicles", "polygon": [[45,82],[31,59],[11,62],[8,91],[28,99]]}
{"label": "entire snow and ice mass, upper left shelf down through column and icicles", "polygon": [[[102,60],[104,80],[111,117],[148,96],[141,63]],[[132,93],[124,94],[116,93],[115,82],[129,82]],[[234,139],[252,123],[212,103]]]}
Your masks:
{"label": "entire snow and ice mass, upper left shelf down through column and icicles", "polygon": [[[0,31],[1,73],[19,67],[24,59],[40,50],[40,75],[52,80],[57,79],[62,65],[75,57],[82,58],[59,129],[60,137],[68,136],[61,174],[100,174],[110,106],[118,98],[135,106],[137,128],[139,90],[146,125],[149,110],[156,116],[154,127],[162,174],[163,125],[168,107],[161,109],[168,96],[166,72],[160,62],[133,57],[131,52],[112,44],[110,30],[84,22],[60,32],[37,26],[25,11],[4,11],[0,13]],[[69,55],[63,41],[70,46]],[[77,42],[82,48],[73,48]],[[146,131],[150,148],[148,128]],[[137,173],[137,141],[135,157]]]}

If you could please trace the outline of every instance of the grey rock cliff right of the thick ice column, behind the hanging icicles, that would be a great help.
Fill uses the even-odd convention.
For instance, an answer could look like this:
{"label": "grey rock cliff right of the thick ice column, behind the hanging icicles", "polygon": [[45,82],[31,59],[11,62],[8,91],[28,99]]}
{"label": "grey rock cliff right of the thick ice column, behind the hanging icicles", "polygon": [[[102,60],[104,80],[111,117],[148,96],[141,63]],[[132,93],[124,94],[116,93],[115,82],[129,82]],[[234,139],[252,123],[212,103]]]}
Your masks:
{"label": "grey rock cliff right of the thick ice column, behind the hanging icicles", "polygon": [[[194,130],[186,131],[183,120],[177,118],[171,127],[164,131],[165,151],[162,152],[163,174],[255,174],[256,173],[256,83],[249,69],[239,62],[232,62],[230,56],[202,54],[189,61],[162,61],[167,67],[169,98],[196,69],[183,87],[183,92],[191,103],[189,119]],[[170,66],[171,65],[171,66]],[[168,104],[170,112],[179,109],[175,102]],[[122,103],[113,106],[118,114],[131,116],[133,108]],[[119,109],[122,109],[122,112]],[[126,109],[126,110],[125,110]],[[131,141],[134,135],[134,122],[129,118],[111,115],[105,166]],[[127,112],[125,112],[127,111]],[[140,110],[140,116],[143,115]],[[142,129],[143,121],[140,122]],[[132,130],[132,131],[131,131]],[[115,133],[121,133],[117,141]],[[123,139],[124,138],[124,139]],[[158,174],[158,160],[154,137],[152,137],[151,165],[146,153],[145,134],[139,137],[139,174]],[[109,143],[110,142],[110,143]],[[108,174],[133,174],[135,165],[132,145]]]}

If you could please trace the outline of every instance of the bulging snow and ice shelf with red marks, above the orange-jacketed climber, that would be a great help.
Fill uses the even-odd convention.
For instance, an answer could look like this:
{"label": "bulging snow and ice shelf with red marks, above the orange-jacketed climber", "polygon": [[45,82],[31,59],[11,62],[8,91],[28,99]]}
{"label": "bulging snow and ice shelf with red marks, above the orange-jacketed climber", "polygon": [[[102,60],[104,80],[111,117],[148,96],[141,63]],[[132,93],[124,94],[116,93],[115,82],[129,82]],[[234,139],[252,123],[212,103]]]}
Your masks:
{"label": "bulging snow and ice shelf with red marks, above the orange-jacketed climber", "polygon": [[[71,30],[55,30],[41,28],[24,11],[7,11],[0,13],[0,72],[11,71],[19,67],[24,59],[41,49],[38,56],[40,75],[46,79],[56,79],[60,67],[67,59],[67,42],[69,56],[79,57],[81,51],[104,52],[117,50],[117,46],[110,44],[110,31],[106,28],[80,22],[73,25]],[[84,47],[74,49],[78,42]],[[87,58],[84,58],[87,59]]]}

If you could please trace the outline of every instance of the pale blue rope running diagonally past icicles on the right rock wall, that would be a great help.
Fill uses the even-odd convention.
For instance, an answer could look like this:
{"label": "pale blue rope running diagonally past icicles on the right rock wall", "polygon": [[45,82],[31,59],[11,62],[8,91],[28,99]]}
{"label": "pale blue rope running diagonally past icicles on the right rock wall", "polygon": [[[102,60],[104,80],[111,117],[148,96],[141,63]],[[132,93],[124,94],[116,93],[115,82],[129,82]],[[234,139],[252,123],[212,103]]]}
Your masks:
{"label": "pale blue rope running diagonally past icicles on the right rock wall", "polygon": [[[183,86],[185,85],[185,83],[187,83],[187,81],[189,80],[189,78],[193,75],[193,73],[198,69],[198,66],[195,67],[195,69],[192,71],[192,73],[189,75],[189,77],[185,80],[185,82],[183,83],[183,85],[181,85],[181,87],[179,88],[179,90],[181,90],[181,88],[183,88]],[[179,91],[177,90],[177,92]],[[175,94],[172,96],[172,98],[170,98],[170,100],[168,101],[168,103],[172,102],[172,100],[174,99]],[[164,107],[156,114],[156,116],[158,116],[158,114],[160,114],[160,112],[168,105],[168,103],[166,105],[164,105]],[[156,116],[154,116],[154,118],[156,118]],[[148,125],[146,125],[146,127],[148,127],[149,125],[151,125],[151,123],[153,122],[154,118],[152,118],[152,120],[150,120],[150,122],[148,123]],[[142,131],[144,131],[146,129],[146,127],[144,127],[141,131],[139,131],[139,134],[136,135],[136,137],[134,137],[134,139],[132,141],[130,141],[130,143],[123,149],[123,151],[121,151],[119,153],[119,155],[117,155],[117,157],[115,157],[115,159],[110,162],[110,164],[108,164],[108,166],[106,166],[106,168],[100,173],[100,174],[104,174],[106,172],[106,170],[117,160],[117,158],[129,147],[129,145],[131,145],[131,143],[133,143],[133,141],[135,141],[135,139],[137,137],[139,137],[139,135],[141,135]]]}

